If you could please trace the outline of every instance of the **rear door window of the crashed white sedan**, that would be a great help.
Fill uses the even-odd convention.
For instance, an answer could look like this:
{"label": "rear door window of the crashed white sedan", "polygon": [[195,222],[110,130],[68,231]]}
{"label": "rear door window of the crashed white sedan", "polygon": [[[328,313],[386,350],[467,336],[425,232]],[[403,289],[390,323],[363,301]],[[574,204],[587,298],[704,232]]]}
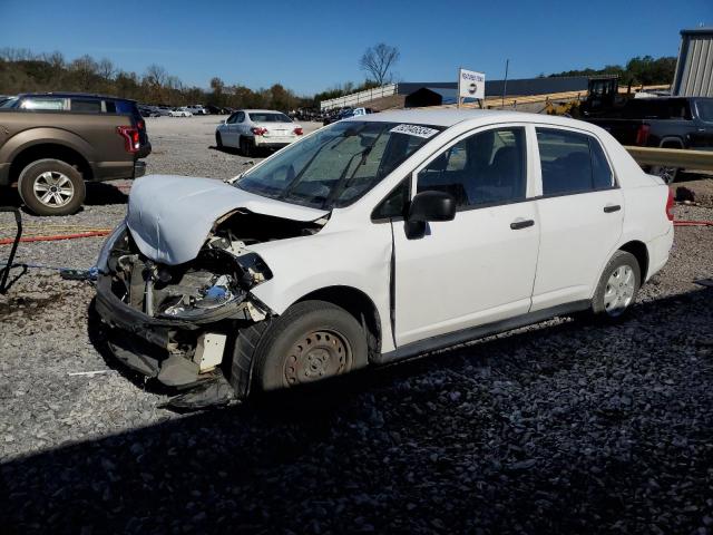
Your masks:
{"label": "rear door window of the crashed white sedan", "polygon": [[566,195],[612,187],[612,168],[592,136],[537,128],[543,195]]}

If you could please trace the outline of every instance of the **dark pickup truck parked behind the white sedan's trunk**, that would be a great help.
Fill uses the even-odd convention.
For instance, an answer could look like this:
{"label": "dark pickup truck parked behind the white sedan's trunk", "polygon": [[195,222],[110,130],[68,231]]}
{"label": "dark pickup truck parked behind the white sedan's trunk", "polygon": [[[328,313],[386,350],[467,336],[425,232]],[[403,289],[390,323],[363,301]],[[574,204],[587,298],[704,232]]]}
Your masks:
{"label": "dark pickup truck parked behind the white sedan's trunk", "polygon": [[[713,150],[713,98],[635,98],[606,116],[585,119],[608,130],[622,145]],[[649,173],[672,183],[680,169]]]}

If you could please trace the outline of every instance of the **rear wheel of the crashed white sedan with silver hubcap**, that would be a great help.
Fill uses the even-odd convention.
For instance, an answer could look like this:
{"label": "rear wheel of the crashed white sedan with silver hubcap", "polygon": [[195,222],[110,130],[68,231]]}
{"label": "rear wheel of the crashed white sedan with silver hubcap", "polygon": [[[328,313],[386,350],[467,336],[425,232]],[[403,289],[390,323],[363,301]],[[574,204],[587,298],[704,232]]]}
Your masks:
{"label": "rear wheel of the crashed white sedan with silver hubcap", "polygon": [[[631,285],[628,273],[631,273]],[[636,256],[626,251],[617,251],[604,268],[592,299],[592,313],[605,321],[622,320],[636,301],[641,283],[641,268]]]}

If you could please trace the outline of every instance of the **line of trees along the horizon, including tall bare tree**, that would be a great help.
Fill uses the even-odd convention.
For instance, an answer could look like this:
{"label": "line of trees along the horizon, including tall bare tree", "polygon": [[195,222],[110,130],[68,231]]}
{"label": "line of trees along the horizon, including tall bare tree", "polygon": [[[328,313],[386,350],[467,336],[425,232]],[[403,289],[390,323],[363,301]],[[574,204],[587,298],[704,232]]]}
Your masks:
{"label": "line of trees along the horizon, including tall bare tree", "polygon": [[[29,91],[85,91],[131,98],[145,104],[185,106],[213,105],[232,108],[271,108],[283,111],[319,107],[321,100],[379,87],[392,81],[393,66],[400,52],[395,47],[379,43],[367,49],[360,68],[367,74],[362,84],[345,82],[311,97],[297,96],[281,84],[253,90],[240,84],[226,84],[218,77],[211,79],[209,88],[186,86],[176,76],[158,65],[150,65],[144,74],[126,71],[109,59],[96,60],[85,55],[67,60],[60,52],[33,54],[27,49],[0,49],[0,95]],[[654,59],[635,57],[625,66],[607,65],[602,69],[577,69],[549,75],[595,76],[618,75],[619,82],[629,85],[671,84],[676,67],[675,57]],[[545,75],[540,75],[545,77]]]}

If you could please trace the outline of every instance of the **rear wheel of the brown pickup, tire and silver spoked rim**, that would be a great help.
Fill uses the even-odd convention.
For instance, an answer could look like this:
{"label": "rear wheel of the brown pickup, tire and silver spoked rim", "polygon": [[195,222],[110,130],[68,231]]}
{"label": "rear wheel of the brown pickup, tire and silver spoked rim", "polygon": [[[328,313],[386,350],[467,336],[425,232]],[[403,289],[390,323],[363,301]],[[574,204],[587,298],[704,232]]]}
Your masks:
{"label": "rear wheel of the brown pickup, tire and silver spoked rim", "polygon": [[18,193],[37,215],[67,215],[81,207],[86,188],[79,171],[66,162],[47,158],[22,169]]}

